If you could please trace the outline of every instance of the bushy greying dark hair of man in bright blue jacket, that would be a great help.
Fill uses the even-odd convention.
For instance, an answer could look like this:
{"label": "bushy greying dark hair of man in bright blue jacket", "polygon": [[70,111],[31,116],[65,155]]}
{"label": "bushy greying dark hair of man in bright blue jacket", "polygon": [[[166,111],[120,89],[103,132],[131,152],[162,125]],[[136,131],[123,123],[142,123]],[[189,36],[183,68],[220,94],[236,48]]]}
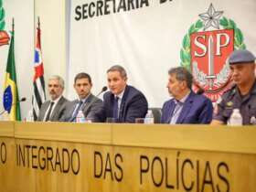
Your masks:
{"label": "bushy greying dark hair of man in bright blue jacket", "polygon": [[184,67],[177,67],[169,69],[169,75],[176,75],[176,80],[185,80],[187,82],[187,88],[192,89],[193,76],[192,74]]}

